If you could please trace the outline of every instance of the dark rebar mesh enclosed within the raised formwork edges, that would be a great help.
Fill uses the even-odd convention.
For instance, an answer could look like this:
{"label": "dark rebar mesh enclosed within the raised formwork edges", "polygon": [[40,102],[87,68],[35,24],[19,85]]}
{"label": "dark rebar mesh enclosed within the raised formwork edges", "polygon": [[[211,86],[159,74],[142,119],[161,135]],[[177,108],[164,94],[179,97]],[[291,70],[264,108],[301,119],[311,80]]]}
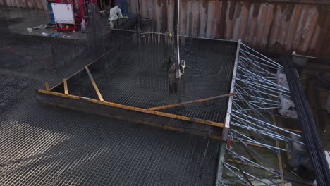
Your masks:
{"label": "dark rebar mesh enclosed within the raised formwork edges", "polygon": [[[139,39],[140,44],[137,44]],[[90,66],[104,100],[147,109],[178,103],[178,97],[181,101],[192,101],[228,93],[236,43],[187,40],[190,44],[182,50],[188,68],[181,80],[181,94],[169,94],[168,61],[172,56],[169,35],[144,33],[140,38],[130,35]],[[90,92],[85,91],[90,87],[87,78],[74,78],[68,82],[70,94],[95,99],[93,88]],[[54,91],[63,92],[63,87]],[[84,91],[85,94],[78,93]],[[224,98],[164,111],[221,122],[227,101]]]}

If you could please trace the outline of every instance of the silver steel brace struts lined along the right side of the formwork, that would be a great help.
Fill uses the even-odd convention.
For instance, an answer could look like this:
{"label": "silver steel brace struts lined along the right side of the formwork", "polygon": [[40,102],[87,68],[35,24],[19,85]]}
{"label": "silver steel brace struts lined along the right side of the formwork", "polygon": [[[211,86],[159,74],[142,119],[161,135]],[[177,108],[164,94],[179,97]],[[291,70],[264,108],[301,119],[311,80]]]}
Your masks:
{"label": "silver steel brace struts lined along the right side of the formwork", "polygon": [[290,97],[290,90],[277,84],[277,70],[283,66],[238,43],[231,87],[236,96],[228,104],[216,185],[285,184],[281,151],[288,149],[279,142],[304,142],[302,136],[276,126],[279,96]]}

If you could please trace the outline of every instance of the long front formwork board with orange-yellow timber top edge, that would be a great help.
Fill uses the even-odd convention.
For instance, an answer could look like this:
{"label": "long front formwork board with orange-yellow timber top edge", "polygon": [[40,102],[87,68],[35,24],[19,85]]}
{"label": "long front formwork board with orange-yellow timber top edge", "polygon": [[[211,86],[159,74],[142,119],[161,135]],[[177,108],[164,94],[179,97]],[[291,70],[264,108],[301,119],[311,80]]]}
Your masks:
{"label": "long front formwork board with orange-yellow timber top edge", "polygon": [[36,94],[37,99],[44,104],[73,109],[85,113],[94,113],[118,120],[127,120],[134,123],[152,125],[166,130],[176,130],[179,132],[187,132],[203,136],[208,135],[209,130],[212,130],[213,133],[211,137],[216,140],[221,139],[221,130],[224,126],[223,123],[216,123],[209,120],[189,118],[159,111],[149,111],[134,106],[125,106],[42,89],[37,89]]}

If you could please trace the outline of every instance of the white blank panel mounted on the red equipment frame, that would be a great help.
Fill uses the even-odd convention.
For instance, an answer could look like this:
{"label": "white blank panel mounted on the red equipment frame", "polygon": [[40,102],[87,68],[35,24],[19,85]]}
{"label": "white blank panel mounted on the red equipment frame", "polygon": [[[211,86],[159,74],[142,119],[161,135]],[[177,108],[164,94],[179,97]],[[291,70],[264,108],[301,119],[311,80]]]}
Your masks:
{"label": "white blank panel mounted on the red equipment frame", "polygon": [[55,23],[75,24],[73,8],[71,4],[51,4],[53,8]]}

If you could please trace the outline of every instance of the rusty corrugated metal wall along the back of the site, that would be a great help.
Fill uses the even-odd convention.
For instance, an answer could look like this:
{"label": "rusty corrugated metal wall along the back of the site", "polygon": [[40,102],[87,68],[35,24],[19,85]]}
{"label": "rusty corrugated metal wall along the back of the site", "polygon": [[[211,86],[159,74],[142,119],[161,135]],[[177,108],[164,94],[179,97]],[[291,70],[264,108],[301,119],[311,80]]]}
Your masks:
{"label": "rusty corrugated metal wall along the back of the site", "polygon": [[[138,0],[127,0],[136,13]],[[173,32],[176,0],[140,0],[152,28]],[[0,0],[4,6],[46,10],[42,0]],[[180,33],[193,37],[242,39],[258,49],[330,56],[330,1],[181,0]]]}

